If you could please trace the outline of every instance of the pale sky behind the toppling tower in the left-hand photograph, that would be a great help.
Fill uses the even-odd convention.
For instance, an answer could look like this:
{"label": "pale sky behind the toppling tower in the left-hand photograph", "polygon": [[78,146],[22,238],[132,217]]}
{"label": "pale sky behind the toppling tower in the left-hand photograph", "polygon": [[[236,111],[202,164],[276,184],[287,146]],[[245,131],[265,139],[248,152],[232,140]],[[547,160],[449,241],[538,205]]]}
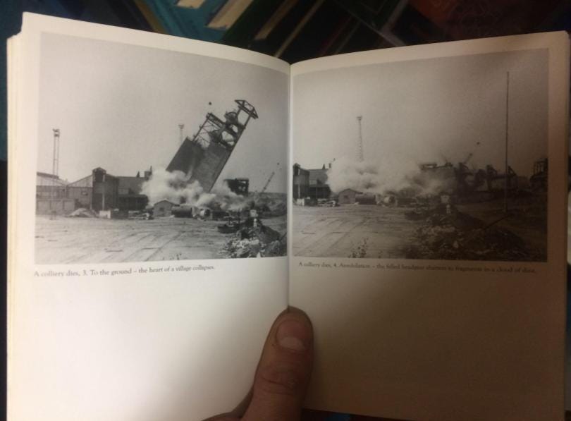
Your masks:
{"label": "pale sky behind the toppling tower in the left-hand photograph", "polygon": [[[246,99],[257,109],[221,177],[259,190],[287,188],[288,76],[268,68],[128,44],[42,35],[37,171],[51,173],[52,128],[61,130],[59,176],[101,166],[116,176],[165,168],[208,111],[223,118]],[[209,102],[212,105],[209,105]],[[278,165],[279,164],[279,165]]]}

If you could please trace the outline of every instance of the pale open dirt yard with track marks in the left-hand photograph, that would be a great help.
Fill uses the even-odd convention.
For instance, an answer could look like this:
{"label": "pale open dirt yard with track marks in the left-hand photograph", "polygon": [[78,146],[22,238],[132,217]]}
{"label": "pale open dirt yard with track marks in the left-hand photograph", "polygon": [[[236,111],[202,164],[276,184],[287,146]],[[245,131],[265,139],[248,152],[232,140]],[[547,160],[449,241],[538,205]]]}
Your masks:
{"label": "pale open dirt yard with track marks in the left-hand photograph", "polygon": [[[285,216],[264,219],[285,233]],[[132,219],[36,217],[38,264],[222,259],[229,236],[221,221],[185,218]]]}

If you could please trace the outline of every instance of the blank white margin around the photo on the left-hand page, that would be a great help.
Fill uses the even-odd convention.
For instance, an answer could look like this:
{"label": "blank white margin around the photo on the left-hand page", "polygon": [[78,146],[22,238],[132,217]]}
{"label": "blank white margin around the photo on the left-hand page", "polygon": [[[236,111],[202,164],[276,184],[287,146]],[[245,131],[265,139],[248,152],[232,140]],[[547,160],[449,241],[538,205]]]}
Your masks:
{"label": "blank white margin around the photo on the left-hand page", "polygon": [[18,143],[11,138],[10,147],[11,420],[142,420],[154,411],[166,419],[171,410],[201,420],[233,409],[250,388],[271,322],[287,305],[287,258],[146,265],[216,268],[192,276],[34,278],[34,269],[133,267],[33,264],[40,36],[54,32],[171,49],[285,74],[288,64],[232,47],[29,13],[23,30]]}

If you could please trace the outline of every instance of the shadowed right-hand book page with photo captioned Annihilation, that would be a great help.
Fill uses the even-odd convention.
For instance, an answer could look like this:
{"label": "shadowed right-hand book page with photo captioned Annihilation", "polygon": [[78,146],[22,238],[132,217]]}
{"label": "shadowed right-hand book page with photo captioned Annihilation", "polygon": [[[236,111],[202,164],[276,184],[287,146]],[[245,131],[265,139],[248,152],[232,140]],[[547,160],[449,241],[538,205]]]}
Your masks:
{"label": "shadowed right-hand book page with photo captioned Annihilation", "polygon": [[561,32],[292,66],[309,408],[563,420],[568,54]]}

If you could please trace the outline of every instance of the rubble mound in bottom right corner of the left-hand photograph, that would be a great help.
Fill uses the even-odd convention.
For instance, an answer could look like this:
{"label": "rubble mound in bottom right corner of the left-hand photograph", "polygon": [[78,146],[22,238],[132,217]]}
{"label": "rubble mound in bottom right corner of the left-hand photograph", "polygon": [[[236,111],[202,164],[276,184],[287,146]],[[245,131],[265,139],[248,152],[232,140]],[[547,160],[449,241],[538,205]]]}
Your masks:
{"label": "rubble mound in bottom right corner of the left-hand photograph", "polygon": [[287,243],[281,236],[267,226],[244,226],[233,234],[224,247],[228,257],[271,257],[285,256]]}

